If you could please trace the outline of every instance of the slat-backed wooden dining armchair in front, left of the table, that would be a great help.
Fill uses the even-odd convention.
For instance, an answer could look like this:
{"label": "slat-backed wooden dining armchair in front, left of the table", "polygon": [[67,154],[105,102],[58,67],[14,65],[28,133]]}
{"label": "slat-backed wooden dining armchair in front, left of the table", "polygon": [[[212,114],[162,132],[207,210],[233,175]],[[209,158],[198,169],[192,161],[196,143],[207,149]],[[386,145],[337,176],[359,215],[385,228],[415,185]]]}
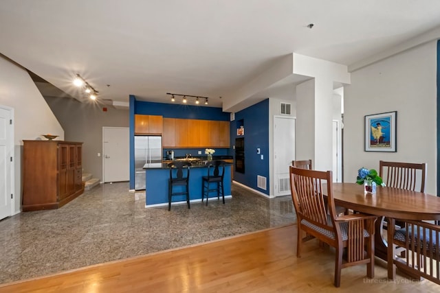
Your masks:
{"label": "slat-backed wooden dining armchair in front, left of the table", "polygon": [[[342,268],[366,263],[367,277],[374,277],[375,215],[356,213],[338,215],[333,199],[333,174],[289,167],[292,200],[298,219],[296,257],[301,257],[303,242],[317,238],[336,248],[334,285],[340,287]],[[326,191],[323,183],[327,183]],[[325,196],[327,194],[328,210]],[[306,236],[303,237],[302,231]],[[345,250],[346,259],[342,261]],[[317,274],[317,277],[319,275]]]}

